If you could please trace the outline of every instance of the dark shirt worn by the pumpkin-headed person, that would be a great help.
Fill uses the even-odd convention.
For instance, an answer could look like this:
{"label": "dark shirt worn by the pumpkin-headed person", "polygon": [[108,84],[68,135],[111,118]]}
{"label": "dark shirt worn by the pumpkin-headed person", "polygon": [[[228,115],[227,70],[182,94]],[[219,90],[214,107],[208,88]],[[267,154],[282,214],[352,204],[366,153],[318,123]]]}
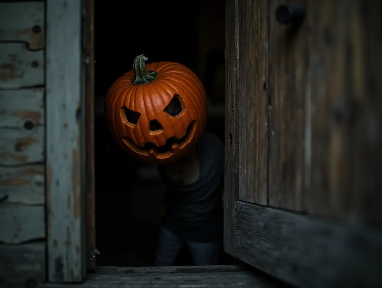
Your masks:
{"label": "dark shirt worn by the pumpkin-headed person", "polygon": [[168,189],[162,224],[186,241],[216,242],[223,229],[224,144],[216,135],[205,131],[196,144],[196,151],[199,178],[194,183],[172,182],[163,168],[159,168]]}

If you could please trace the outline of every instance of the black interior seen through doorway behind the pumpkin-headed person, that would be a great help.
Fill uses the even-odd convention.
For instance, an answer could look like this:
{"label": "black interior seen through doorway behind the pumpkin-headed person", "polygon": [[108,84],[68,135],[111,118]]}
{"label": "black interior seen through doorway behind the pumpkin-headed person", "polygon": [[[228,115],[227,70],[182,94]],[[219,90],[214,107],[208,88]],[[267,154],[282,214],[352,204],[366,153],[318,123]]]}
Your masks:
{"label": "black interior seen through doorway behind the pumpkin-headed person", "polygon": [[[179,62],[202,80],[206,130],[224,137],[225,2],[95,0],[95,181],[97,265],[152,266],[165,190],[155,165],[135,161],[113,141],[103,103],[134,57]],[[155,123],[153,129],[157,129]],[[191,265],[182,251],[176,265]],[[222,251],[221,264],[234,261]]]}

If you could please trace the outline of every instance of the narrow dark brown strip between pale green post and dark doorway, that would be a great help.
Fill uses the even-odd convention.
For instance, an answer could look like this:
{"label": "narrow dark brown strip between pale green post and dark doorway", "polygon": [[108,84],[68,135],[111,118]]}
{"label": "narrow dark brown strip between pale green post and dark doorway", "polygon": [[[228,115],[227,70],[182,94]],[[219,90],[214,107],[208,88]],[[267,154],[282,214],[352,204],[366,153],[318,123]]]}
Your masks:
{"label": "narrow dark brown strip between pale green post and dark doorway", "polygon": [[86,0],[85,205],[87,269],[95,268],[94,0]]}

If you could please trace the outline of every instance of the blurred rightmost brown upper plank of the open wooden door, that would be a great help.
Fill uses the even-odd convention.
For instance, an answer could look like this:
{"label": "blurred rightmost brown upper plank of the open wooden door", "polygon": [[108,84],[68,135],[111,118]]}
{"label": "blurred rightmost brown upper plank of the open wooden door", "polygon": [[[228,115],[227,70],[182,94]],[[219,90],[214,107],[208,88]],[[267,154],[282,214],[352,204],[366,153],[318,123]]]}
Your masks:
{"label": "blurred rightmost brown upper plank of the open wooden door", "polygon": [[304,210],[382,223],[382,3],[309,1],[307,15],[311,175]]}

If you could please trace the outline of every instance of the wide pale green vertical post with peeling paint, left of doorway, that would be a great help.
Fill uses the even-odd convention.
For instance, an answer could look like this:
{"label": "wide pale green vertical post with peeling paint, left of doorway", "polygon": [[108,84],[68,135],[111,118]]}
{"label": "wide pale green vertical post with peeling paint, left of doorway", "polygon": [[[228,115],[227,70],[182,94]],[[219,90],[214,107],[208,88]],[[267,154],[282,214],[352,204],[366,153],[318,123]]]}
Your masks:
{"label": "wide pale green vertical post with peeling paint, left of doorway", "polygon": [[48,275],[82,281],[81,1],[47,0]]}

